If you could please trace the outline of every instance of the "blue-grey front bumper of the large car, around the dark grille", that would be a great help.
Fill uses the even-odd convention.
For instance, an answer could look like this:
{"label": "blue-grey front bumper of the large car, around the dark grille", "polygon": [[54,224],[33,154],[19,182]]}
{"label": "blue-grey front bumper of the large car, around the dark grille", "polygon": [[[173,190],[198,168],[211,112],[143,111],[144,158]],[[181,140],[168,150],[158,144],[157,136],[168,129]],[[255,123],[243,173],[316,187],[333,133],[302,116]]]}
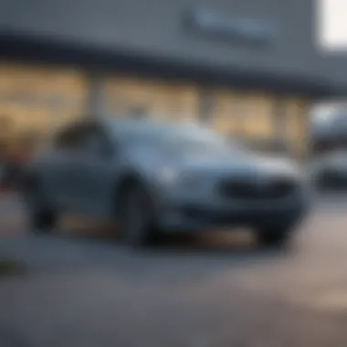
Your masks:
{"label": "blue-grey front bumper of the large car, around the dark grille", "polygon": [[[247,183],[251,179],[235,177],[236,182]],[[247,194],[245,197],[233,193],[225,195],[218,186],[221,182],[223,177],[212,177],[184,187],[168,186],[156,190],[157,224],[169,232],[197,231],[215,226],[289,226],[305,216],[310,207],[308,184],[298,182],[291,193],[281,197]]]}

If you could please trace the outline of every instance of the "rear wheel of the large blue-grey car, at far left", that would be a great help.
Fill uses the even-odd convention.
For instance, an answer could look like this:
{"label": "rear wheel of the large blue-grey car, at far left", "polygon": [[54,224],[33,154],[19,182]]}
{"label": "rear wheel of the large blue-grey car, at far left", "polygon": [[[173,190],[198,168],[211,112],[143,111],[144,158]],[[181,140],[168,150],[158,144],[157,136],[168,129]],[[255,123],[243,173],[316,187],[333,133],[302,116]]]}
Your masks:
{"label": "rear wheel of the large blue-grey car, at far left", "polygon": [[45,199],[40,184],[37,180],[27,181],[23,193],[30,232],[37,235],[50,234],[57,225],[58,216]]}

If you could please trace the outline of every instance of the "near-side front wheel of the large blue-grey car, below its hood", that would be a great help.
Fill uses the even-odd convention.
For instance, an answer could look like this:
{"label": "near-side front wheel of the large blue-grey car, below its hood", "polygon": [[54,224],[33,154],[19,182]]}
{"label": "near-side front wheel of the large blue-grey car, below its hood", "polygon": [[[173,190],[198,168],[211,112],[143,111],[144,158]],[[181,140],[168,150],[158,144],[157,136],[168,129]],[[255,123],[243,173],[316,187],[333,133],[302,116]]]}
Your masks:
{"label": "near-side front wheel of the large blue-grey car, below its hood", "polygon": [[133,248],[159,241],[155,227],[152,199],[141,184],[131,184],[121,192],[120,228],[122,242]]}

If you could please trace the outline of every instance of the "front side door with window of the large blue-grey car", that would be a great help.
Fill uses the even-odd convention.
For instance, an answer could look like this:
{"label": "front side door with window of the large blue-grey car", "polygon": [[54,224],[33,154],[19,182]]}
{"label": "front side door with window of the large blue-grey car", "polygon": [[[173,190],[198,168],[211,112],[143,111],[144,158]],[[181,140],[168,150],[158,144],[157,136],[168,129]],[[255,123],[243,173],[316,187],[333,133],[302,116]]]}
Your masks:
{"label": "front side door with window of the large blue-grey car", "polygon": [[100,123],[89,122],[75,159],[75,184],[81,212],[95,216],[110,214],[110,200],[119,172],[116,143]]}

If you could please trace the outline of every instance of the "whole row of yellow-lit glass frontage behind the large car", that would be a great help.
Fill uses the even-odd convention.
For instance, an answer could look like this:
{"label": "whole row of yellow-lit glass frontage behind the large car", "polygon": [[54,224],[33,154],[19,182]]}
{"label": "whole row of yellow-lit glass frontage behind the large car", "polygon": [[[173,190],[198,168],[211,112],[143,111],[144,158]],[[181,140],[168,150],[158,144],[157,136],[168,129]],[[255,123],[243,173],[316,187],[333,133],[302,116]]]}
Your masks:
{"label": "whole row of yellow-lit glass frontage behind the large car", "polygon": [[[104,110],[113,117],[204,122],[250,142],[285,142],[306,152],[308,100],[261,91],[199,86],[127,76],[102,78]],[[44,136],[88,114],[88,75],[73,68],[0,64],[0,138]]]}

